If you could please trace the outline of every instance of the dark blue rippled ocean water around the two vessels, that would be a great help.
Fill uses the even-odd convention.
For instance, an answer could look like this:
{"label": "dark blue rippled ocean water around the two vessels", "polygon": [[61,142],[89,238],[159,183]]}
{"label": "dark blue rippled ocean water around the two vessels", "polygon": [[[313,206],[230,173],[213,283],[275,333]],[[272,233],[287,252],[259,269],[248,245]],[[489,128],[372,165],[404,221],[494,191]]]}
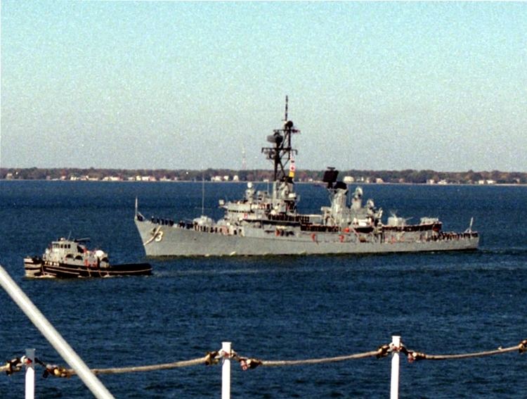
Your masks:
{"label": "dark blue rippled ocean water around the two vessels", "polygon": [[[243,184],[0,181],[0,263],[90,367],[202,357],[231,341],[263,360],[375,350],[402,336],[429,354],[517,345],[527,338],[527,186],[365,185],[385,217],[440,217],[462,231],[474,217],[479,251],[398,255],[152,259],[151,277],[25,279],[23,258],[60,236],[91,238],[112,262],[144,260],[134,227],[143,215],[214,218],[219,198]],[[266,189],[259,184],[259,189]],[[353,187],[352,187],[353,189]],[[299,208],[327,204],[322,186],[299,184]],[[65,365],[8,295],[0,293],[0,360],[36,348]],[[390,360],[232,367],[233,398],[386,398]],[[401,398],[526,398],[527,354],[408,363]],[[82,381],[42,379],[38,398],[91,398]],[[116,398],[219,398],[221,366],[100,376]],[[21,398],[23,373],[0,375],[0,398]]]}

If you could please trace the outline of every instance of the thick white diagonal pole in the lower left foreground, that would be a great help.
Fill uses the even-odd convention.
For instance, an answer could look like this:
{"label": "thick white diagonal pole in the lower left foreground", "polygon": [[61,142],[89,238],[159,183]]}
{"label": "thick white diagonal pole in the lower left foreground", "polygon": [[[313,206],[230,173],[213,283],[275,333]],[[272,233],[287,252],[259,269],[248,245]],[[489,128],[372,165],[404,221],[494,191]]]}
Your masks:
{"label": "thick white diagonal pole in the lower left foreground", "polygon": [[60,336],[58,331],[51,325],[44,315],[31,302],[30,298],[20,289],[20,287],[11,279],[8,272],[0,265],[0,285],[13,298],[15,303],[25,313],[25,315],[40,330],[42,335],[51,343],[53,348],[63,357],[77,375],[84,381],[91,393],[98,399],[113,399],[113,395],[91,372],[82,359],[75,353],[72,347]]}

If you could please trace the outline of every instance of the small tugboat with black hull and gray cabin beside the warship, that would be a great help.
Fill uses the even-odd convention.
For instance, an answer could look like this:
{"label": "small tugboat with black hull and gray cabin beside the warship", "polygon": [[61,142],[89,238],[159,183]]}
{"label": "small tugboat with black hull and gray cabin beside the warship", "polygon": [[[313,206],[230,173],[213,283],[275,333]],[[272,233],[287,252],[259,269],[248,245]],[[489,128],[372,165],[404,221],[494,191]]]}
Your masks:
{"label": "small tugboat with black hull and gray cabin beside the warship", "polygon": [[114,277],[152,274],[150,263],[110,265],[108,253],[89,251],[89,239],[52,241],[44,255],[24,259],[26,277]]}

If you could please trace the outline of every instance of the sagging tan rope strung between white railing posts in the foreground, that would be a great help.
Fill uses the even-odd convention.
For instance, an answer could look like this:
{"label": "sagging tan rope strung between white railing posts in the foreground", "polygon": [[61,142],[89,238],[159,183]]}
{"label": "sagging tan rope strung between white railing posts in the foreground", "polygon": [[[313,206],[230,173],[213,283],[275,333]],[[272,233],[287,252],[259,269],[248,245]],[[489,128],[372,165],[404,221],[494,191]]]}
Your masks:
{"label": "sagging tan rope strung between white railing posts in the foreground", "polygon": [[[261,360],[256,357],[243,357],[238,355],[234,350],[230,353],[226,353],[223,350],[216,350],[208,352],[203,357],[197,357],[190,360],[181,360],[178,362],[161,363],[157,365],[143,365],[143,366],[132,366],[132,367],[110,367],[105,369],[91,369],[93,374],[123,374],[132,372],[152,372],[156,370],[164,369],[175,369],[178,367],[192,367],[197,365],[216,365],[221,359],[229,358],[231,360],[238,361],[243,370],[254,369],[256,367],[283,367],[283,366],[298,366],[298,365],[319,365],[323,363],[333,362],[344,362],[346,360],[358,360],[365,359],[367,357],[386,357],[393,352],[402,353],[408,357],[408,362],[416,362],[419,360],[460,360],[469,359],[472,357],[485,357],[493,355],[502,355],[504,353],[512,353],[518,351],[520,354],[527,352],[527,339],[524,339],[515,346],[509,346],[507,348],[497,348],[495,350],[483,350],[480,352],[473,353],[457,353],[451,355],[429,355],[427,353],[418,352],[417,350],[408,350],[403,343],[400,346],[395,347],[393,344],[384,344],[379,346],[377,350],[370,350],[363,353],[353,353],[351,355],[343,355],[336,357],[320,357],[304,360]],[[3,366],[0,366],[0,372],[5,372],[7,375],[20,372],[22,366],[28,362],[27,357],[15,357],[12,360],[8,360]],[[70,377],[75,375],[73,369],[66,369],[58,365],[46,364],[38,358],[34,359],[37,365],[44,367],[44,378],[47,376],[56,377]]]}

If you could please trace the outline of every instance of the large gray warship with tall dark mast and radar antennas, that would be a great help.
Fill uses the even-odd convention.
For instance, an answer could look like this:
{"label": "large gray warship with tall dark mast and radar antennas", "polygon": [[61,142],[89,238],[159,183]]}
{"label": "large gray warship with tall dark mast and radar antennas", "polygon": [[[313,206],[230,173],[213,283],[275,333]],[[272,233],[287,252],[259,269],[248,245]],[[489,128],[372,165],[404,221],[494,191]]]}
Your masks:
{"label": "large gray warship with tall dark mast and radar antennas", "polygon": [[442,222],[436,217],[421,217],[418,224],[407,224],[403,217],[391,215],[384,223],[382,209],[371,199],[363,204],[360,186],[350,196],[348,186],[338,181],[339,172],[332,167],[323,177],[330,205],[323,206],[319,214],[299,213],[300,198],[294,190],[297,150],[292,148],[292,137],[299,133],[287,118],[286,96],[284,125],[273,130],[267,137],[271,146],[261,150],[274,166],[271,192],[257,191],[251,182],[247,183],[242,199],[219,201],[225,210],[220,220],[206,215],[192,222],[148,219],[138,211],[136,200],[134,220],[146,255],[366,254],[467,251],[478,247],[479,234],[472,231],[472,220],[464,232],[443,232]]}

